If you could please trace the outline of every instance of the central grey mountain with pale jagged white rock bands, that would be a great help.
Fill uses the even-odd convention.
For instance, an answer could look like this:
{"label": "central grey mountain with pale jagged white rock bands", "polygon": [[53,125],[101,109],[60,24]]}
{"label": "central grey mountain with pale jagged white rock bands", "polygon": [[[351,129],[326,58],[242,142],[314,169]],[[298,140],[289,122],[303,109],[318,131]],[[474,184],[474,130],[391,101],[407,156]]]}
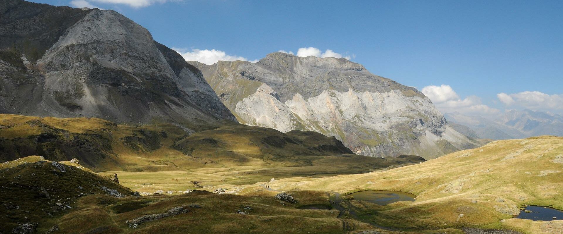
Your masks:
{"label": "central grey mountain with pale jagged white rock bands", "polygon": [[345,58],[275,52],[257,63],[189,62],[240,122],[336,136],[358,154],[435,158],[476,147],[415,88]]}

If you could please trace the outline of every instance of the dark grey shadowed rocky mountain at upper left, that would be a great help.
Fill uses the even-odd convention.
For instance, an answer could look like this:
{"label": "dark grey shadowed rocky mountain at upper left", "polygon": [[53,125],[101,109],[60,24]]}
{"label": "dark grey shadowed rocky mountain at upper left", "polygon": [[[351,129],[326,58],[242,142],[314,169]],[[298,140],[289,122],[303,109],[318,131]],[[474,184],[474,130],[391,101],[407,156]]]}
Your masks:
{"label": "dark grey shadowed rocky mountain at upper left", "polygon": [[0,0],[0,112],[236,121],[197,68],[123,15],[20,0]]}

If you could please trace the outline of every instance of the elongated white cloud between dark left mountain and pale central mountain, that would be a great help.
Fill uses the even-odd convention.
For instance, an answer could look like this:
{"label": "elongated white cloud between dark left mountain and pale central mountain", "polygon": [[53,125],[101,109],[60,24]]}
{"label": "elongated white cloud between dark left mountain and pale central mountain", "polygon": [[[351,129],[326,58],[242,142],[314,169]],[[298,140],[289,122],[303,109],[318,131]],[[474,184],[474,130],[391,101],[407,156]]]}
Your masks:
{"label": "elongated white cloud between dark left mountain and pale central mountain", "polygon": [[217,51],[216,49],[182,49],[182,48],[172,48],[176,52],[180,53],[186,61],[198,61],[205,63],[207,65],[212,65],[213,63],[217,63],[217,61],[249,61],[249,62],[258,62],[258,60],[248,60],[248,58],[236,56],[236,55],[228,55],[224,51]]}

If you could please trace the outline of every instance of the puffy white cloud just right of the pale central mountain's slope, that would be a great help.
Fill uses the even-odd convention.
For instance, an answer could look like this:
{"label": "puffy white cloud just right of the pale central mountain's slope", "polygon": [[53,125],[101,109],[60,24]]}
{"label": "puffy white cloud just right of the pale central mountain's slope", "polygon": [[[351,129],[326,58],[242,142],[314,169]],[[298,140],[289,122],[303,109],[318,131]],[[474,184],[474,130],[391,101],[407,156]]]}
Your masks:
{"label": "puffy white cloud just right of the pale central mountain's slope", "polygon": [[422,88],[422,93],[432,100],[436,108],[442,113],[460,112],[463,114],[490,115],[500,111],[481,103],[481,98],[471,95],[464,99],[459,98],[449,85],[430,85]]}

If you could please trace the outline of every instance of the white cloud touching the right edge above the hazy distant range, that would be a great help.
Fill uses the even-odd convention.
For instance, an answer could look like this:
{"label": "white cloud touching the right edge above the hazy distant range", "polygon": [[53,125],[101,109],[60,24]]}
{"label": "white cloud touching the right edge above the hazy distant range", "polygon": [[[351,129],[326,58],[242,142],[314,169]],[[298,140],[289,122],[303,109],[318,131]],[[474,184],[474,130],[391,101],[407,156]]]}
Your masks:
{"label": "white cloud touching the right edge above the hazy distant range", "polygon": [[534,111],[563,110],[563,94],[545,94],[540,91],[523,91],[515,94],[499,93],[497,98],[505,105],[513,105]]}

